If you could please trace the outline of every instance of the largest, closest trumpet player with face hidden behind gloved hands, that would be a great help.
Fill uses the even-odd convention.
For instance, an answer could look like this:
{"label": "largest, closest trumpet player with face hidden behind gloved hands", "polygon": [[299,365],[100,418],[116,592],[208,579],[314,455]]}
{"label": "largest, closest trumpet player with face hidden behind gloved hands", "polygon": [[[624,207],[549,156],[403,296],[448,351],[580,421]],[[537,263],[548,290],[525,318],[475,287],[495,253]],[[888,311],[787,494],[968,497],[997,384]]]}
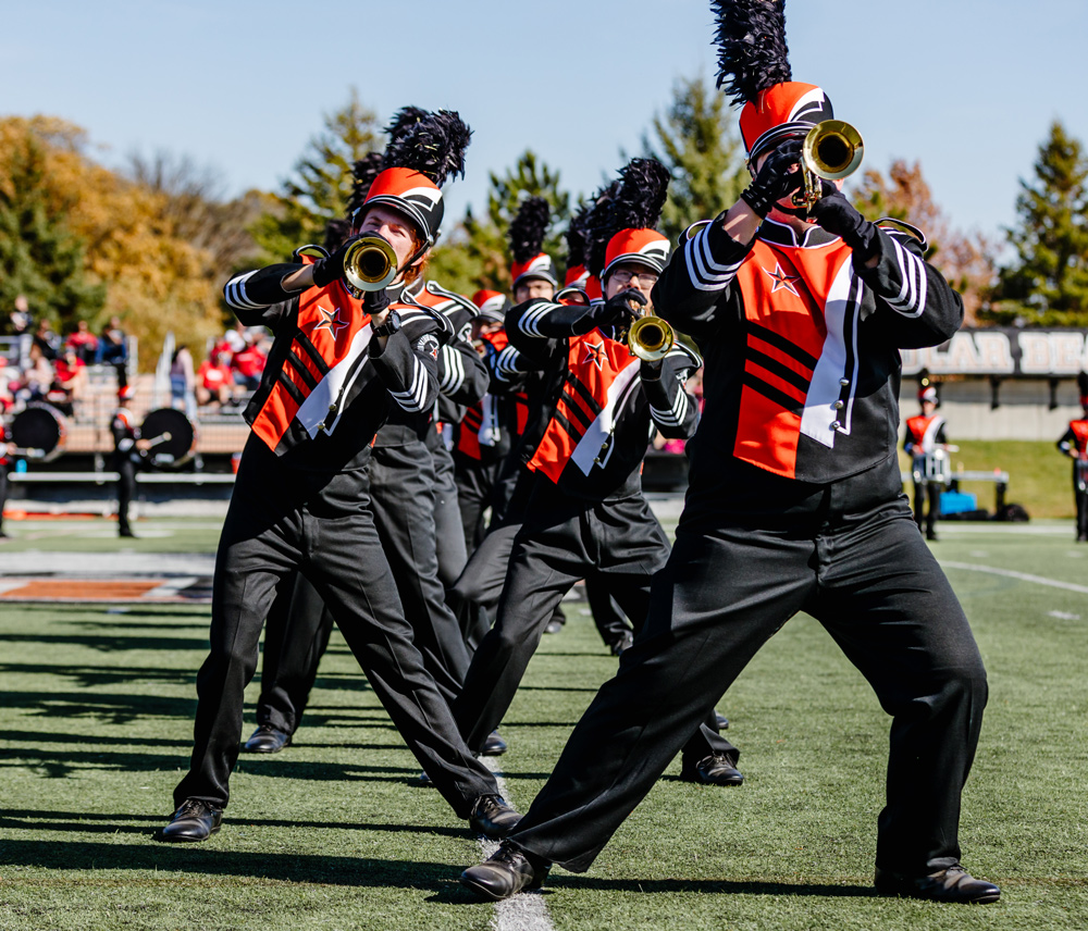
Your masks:
{"label": "largest, closest trumpet player with face hidden behind gloved hands", "polygon": [[900,347],[950,338],[963,303],[913,235],[867,222],[830,186],[811,207],[794,199],[801,137],[830,103],[792,80],[781,3],[715,5],[719,84],[744,104],[753,181],[690,232],[654,290],[706,359],[676,544],[618,674],[518,829],[462,882],[503,898],[539,885],[549,862],[588,869],[685,729],[804,610],[892,716],[877,891],[996,902],[959,843],[986,674],[895,449]]}

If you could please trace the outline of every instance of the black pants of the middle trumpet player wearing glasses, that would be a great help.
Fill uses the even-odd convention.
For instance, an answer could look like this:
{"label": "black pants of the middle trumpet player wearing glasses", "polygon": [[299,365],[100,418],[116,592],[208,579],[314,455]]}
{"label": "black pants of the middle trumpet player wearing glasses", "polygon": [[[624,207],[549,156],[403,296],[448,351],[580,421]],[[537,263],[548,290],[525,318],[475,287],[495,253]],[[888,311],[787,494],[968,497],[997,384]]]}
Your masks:
{"label": "black pants of the middle trumpet player wearing glasses", "polygon": [[[540,645],[553,610],[594,571],[639,629],[650,607],[651,579],[669,554],[665,531],[640,494],[615,501],[577,501],[558,492],[534,497],[514,539],[495,625],[472,657],[454,717],[472,749],[503,720]],[[739,752],[717,732],[714,708],[688,728],[685,757],[694,762]],[[694,735],[693,735],[694,734]]]}

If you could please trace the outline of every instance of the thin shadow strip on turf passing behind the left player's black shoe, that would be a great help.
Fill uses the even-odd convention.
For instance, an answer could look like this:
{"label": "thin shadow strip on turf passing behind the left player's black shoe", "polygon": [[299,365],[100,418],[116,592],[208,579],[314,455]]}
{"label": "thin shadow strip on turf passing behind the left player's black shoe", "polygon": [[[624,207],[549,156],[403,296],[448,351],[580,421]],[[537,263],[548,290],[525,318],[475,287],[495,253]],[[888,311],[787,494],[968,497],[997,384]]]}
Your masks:
{"label": "thin shadow strip on turf passing behind the left player's black shoe", "polygon": [[[172,812],[163,815],[100,815],[83,811],[38,811],[8,808],[0,815],[0,829],[9,831],[63,831],[72,834],[133,834],[153,837],[170,820]],[[139,823],[132,823],[133,821]],[[371,824],[360,821],[301,821],[279,818],[237,818],[230,810],[223,816],[223,833],[228,836],[232,828],[299,828],[334,831],[381,831],[392,834],[440,834],[446,837],[468,839],[468,828],[448,824]],[[2,849],[4,841],[0,841]],[[60,842],[57,842],[60,843]],[[215,841],[211,842],[212,845]],[[214,849],[214,846],[211,847]]]}

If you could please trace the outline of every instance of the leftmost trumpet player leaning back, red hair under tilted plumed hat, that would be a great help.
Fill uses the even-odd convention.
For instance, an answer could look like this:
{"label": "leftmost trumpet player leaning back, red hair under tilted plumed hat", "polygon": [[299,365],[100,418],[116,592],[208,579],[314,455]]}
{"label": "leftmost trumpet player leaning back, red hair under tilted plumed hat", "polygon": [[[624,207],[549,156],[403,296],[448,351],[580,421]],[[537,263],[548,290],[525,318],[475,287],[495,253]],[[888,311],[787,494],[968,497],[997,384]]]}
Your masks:
{"label": "leftmost trumpet player leaning back, red hair under tilted plumed hat", "polygon": [[[392,247],[394,284],[421,271],[442,218],[441,185],[463,171],[470,132],[455,113],[421,120],[386,151],[355,232]],[[392,146],[391,146],[392,149]],[[409,749],[458,817],[498,836],[518,815],[457,733],[412,642],[369,504],[371,443],[394,407],[429,410],[448,323],[384,290],[348,290],[348,245],[232,278],[227,302],[275,334],[217,557],[211,653],[197,678],[189,772],[164,841],[219,830],[238,754],[243,692],[277,585],[297,569],[339,625]]]}

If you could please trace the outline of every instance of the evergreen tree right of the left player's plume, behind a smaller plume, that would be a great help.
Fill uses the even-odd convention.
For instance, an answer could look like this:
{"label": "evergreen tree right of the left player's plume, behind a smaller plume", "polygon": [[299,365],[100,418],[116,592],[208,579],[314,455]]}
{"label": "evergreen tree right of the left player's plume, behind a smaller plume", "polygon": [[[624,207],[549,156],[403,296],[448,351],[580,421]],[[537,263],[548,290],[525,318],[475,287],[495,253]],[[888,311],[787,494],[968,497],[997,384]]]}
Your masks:
{"label": "evergreen tree right of the left player's plume, behind a smaller plume", "polygon": [[526,197],[543,197],[552,208],[552,229],[544,250],[557,264],[565,255],[562,233],[570,220],[570,194],[560,186],[559,172],[553,171],[531,150],[526,150],[503,175],[490,174],[487,211],[478,219],[469,208],[445,244],[432,255],[428,275],[444,287],[462,294],[477,288],[509,291],[510,256],[506,233]]}

